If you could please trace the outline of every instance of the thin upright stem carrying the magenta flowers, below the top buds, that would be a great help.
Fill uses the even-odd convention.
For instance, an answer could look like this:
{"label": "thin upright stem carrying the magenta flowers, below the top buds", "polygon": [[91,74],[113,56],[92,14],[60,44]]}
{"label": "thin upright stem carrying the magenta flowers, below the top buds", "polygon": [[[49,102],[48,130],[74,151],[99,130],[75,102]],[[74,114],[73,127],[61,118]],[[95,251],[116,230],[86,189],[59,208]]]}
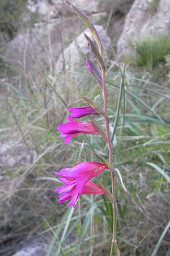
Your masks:
{"label": "thin upright stem carrying the magenta flowers, below the top buds", "polygon": [[[105,85],[105,69],[102,69],[102,81],[103,81],[103,105],[104,105],[104,111],[105,113],[107,113],[107,89]],[[104,119],[105,119],[105,129],[107,134],[109,163],[113,164],[113,146],[112,146],[112,141],[111,141],[111,136],[109,131],[108,115]],[[112,236],[110,256],[113,256],[114,250],[116,251],[116,255],[120,256],[120,250],[118,249],[117,240],[116,240],[117,205],[116,205],[115,171],[111,171],[111,179],[112,179],[112,207],[113,207],[113,236]]]}

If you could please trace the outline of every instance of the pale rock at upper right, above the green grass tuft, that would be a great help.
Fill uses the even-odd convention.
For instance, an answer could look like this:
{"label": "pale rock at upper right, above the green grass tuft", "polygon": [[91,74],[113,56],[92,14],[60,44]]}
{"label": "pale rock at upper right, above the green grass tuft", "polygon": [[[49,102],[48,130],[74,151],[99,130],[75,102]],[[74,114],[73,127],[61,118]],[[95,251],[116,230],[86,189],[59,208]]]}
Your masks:
{"label": "pale rock at upper right, above the green grass tuft", "polygon": [[[142,36],[161,36],[170,32],[169,0],[135,0],[126,16],[124,30],[117,42],[118,58],[131,55],[131,44]],[[134,51],[134,49],[133,49]]]}

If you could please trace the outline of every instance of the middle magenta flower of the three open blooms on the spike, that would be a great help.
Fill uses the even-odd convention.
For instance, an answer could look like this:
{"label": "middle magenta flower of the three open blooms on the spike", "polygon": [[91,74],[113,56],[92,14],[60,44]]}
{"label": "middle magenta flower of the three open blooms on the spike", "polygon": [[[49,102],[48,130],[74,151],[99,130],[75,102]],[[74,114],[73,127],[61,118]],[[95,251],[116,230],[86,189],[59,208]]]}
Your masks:
{"label": "middle magenta flower of the three open blooms on the spike", "polygon": [[65,138],[65,144],[69,143],[70,139],[79,134],[99,134],[92,123],[77,122],[71,119],[67,123],[58,125],[57,130],[61,131],[60,138]]}

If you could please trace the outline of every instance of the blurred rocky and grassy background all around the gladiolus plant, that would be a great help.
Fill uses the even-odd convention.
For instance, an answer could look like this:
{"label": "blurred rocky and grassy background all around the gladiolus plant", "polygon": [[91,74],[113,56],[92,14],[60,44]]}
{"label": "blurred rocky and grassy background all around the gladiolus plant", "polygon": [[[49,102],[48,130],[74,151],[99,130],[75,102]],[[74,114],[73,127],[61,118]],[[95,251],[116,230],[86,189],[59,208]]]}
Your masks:
{"label": "blurred rocky and grassy background all around the gladiolus plant", "polygon": [[[170,1],[70,2],[103,43],[122,255],[169,256]],[[82,196],[73,211],[53,192],[54,171],[97,160],[93,148],[107,158],[99,136],[65,145],[56,130],[80,96],[102,105],[84,30],[65,1],[0,1],[0,255],[109,255],[106,197]]]}

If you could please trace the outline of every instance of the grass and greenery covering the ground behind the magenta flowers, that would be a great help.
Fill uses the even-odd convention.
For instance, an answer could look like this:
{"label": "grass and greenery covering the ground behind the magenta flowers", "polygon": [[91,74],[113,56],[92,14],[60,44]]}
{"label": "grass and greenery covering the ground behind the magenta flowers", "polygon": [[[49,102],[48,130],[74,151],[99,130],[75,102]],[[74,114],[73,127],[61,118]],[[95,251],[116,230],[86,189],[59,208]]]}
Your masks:
{"label": "grass and greenery covering the ground behind the magenta flowers", "polygon": [[[148,49],[138,62],[145,65],[147,72],[137,73],[138,67],[115,65],[107,76],[117,170],[117,238],[122,255],[168,256],[170,89],[165,86],[168,76],[158,84],[154,75],[155,69],[159,70],[155,64],[164,60],[168,52],[162,47],[155,49],[154,43]],[[18,159],[14,145],[22,144],[29,163],[18,161],[12,168],[1,169],[0,254],[14,253],[23,244],[23,238],[27,242],[41,237],[48,244],[46,256],[108,255],[113,215],[109,201],[104,196],[87,195],[73,210],[58,205],[53,192],[58,185],[54,171],[75,162],[96,160],[90,154],[94,146],[107,157],[99,137],[84,135],[83,142],[76,137],[67,147],[56,131],[68,115],[67,108],[73,102],[82,105],[79,94],[97,96],[100,104],[99,88],[88,73],[56,77],[52,67],[44,67],[37,56],[28,57],[33,71],[8,61],[3,64],[5,76],[1,74],[2,143],[11,141],[13,152],[9,161],[11,156]],[[168,57],[166,60],[168,68]],[[88,89],[84,84],[89,85]],[[98,120],[102,125],[102,119]],[[108,187],[111,185],[104,174],[100,177]]]}

